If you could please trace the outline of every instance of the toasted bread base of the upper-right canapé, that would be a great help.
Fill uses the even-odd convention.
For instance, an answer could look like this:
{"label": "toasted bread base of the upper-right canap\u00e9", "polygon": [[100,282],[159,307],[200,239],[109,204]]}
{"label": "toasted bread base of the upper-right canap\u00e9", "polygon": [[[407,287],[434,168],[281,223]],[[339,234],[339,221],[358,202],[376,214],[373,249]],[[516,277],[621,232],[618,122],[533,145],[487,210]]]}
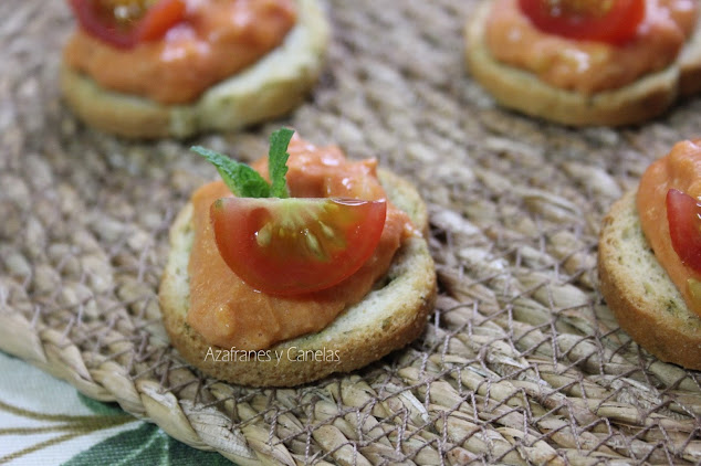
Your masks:
{"label": "toasted bread base of the upper-right canap\u00e9", "polygon": [[484,42],[490,4],[483,1],[465,25],[465,57],[472,76],[504,107],[569,126],[620,126],[653,118],[679,94],[701,91],[699,28],[672,65],[619,89],[585,96],[496,61]]}

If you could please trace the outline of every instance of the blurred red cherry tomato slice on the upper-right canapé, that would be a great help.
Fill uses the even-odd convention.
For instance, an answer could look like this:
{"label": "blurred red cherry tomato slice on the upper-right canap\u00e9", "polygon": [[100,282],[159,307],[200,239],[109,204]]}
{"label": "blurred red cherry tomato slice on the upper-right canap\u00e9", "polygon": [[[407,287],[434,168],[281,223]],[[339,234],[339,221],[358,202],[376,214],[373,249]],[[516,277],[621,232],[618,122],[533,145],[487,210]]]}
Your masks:
{"label": "blurred red cherry tomato slice on the upper-right canap\u00e9", "polygon": [[645,0],[519,0],[542,31],[568,39],[621,44],[636,35]]}

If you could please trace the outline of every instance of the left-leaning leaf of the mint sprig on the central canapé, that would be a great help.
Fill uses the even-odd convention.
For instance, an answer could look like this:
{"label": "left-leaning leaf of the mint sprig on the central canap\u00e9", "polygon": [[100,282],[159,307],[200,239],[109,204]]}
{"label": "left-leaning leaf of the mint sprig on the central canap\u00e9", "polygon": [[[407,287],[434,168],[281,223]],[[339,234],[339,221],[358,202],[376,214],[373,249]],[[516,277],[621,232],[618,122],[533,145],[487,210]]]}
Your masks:
{"label": "left-leaning leaf of the mint sprig on the central canap\u00e9", "polygon": [[[240,163],[219,152],[201,146],[190,148],[209,160],[221,174],[227,187],[239,198],[270,198],[270,184],[258,171],[245,163]],[[285,168],[286,171],[286,168]],[[284,174],[283,174],[284,177]],[[284,179],[283,179],[284,181]]]}

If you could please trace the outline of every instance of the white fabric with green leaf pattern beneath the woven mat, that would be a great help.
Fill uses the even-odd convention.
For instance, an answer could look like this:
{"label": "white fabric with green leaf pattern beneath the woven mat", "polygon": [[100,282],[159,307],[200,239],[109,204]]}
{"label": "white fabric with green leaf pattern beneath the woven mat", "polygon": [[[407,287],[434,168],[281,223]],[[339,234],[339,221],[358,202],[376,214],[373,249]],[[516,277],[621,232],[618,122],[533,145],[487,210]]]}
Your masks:
{"label": "white fabric with green leaf pattern beneath the woven mat", "polygon": [[230,464],[2,352],[0,373],[0,464]]}

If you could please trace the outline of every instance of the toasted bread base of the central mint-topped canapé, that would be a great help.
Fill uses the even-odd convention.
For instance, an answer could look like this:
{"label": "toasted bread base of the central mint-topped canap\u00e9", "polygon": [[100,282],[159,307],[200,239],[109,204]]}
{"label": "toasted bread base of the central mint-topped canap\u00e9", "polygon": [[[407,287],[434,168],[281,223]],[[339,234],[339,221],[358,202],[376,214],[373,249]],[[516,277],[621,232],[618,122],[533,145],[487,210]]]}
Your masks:
{"label": "toasted bread base of the central mint-topped canap\u00e9", "polygon": [[[428,214],[417,191],[389,172],[379,174],[389,199],[407,211],[418,227],[426,230]],[[213,359],[217,351],[230,358],[232,349],[209,345],[185,321],[189,308],[187,263],[192,241],[191,215],[192,205],[188,204],[171,227],[171,253],[159,290],[160,307],[174,347],[190,364],[217,379],[255,386],[292,386],[334,372],[352,371],[417,338],[432,311],[433,262],[426,241],[411,237],[402,243],[376,289],[325,329],[274,346],[266,353],[270,361],[244,362],[240,358],[234,362],[217,361]]]}

